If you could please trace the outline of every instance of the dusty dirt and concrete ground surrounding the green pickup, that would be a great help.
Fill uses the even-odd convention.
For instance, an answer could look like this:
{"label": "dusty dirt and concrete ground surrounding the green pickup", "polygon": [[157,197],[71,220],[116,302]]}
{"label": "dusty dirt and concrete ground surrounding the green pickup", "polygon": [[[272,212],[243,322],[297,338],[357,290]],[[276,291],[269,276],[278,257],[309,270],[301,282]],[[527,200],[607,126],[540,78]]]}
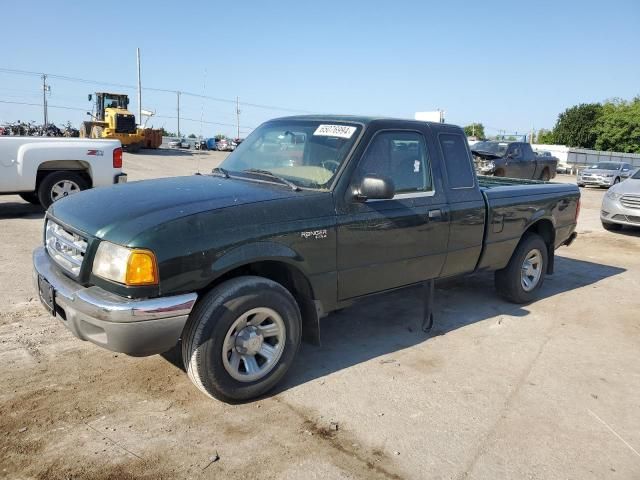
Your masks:
{"label": "dusty dirt and concrete ground surrounding the green pickup", "polygon": [[367,300],[324,319],[278,391],[236,406],[171,354],[110,353],[47,316],[31,287],[43,214],[0,197],[0,477],[640,478],[640,232],[602,229],[603,194],[583,190],[580,236],[539,301],[503,302],[491,275],[450,281],[425,335],[417,290]]}

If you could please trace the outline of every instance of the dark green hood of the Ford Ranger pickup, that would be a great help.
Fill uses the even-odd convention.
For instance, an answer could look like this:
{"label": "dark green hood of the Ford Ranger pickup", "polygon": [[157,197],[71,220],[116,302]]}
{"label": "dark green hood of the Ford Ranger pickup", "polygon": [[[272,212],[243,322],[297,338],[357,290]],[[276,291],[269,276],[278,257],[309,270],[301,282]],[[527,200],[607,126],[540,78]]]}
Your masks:
{"label": "dark green hood of the Ford Ranger pickup", "polygon": [[48,215],[87,235],[125,245],[146,229],[180,217],[293,195],[305,192],[267,182],[193,175],[86,190],[55,202]]}

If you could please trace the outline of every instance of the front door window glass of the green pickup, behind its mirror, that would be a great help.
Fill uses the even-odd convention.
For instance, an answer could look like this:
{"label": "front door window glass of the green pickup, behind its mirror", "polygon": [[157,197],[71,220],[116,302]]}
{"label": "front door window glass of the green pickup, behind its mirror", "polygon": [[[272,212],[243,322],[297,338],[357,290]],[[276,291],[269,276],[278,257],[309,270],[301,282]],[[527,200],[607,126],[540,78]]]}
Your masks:
{"label": "front door window glass of the green pickup, behind its mirror", "polygon": [[358,177],[381,175],[393,180],[396,194],[433,189],[424,137],[417,132],[382,132],[367,147]]}

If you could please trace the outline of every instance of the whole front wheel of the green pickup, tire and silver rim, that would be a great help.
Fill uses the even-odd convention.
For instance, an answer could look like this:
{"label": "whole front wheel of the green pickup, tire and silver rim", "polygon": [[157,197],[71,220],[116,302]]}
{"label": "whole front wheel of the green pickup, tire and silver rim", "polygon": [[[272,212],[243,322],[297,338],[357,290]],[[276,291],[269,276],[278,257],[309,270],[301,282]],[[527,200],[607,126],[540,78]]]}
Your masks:
{"label": "whole front wheel of the green pickup, tire and silver rim", "polygon": [[272,280],[243,276],[211,290],[182,336],[182,359],[205,394],[240,402],[271,390],[293,363],[301,337],[300,309]]}

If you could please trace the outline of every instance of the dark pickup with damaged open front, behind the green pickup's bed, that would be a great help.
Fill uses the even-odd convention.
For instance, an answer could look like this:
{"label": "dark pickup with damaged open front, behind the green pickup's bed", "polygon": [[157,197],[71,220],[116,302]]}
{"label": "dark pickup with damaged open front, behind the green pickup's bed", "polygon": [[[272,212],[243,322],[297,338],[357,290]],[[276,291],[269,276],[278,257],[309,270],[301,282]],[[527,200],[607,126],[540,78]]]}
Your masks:
{"label": "dark pickup with damaged open front, behind the green pickup's bed", "polygon": [[471,146],[479,175],[548,181],[556,176],[556,157],[539,156],[527,142],[487,140]]}

